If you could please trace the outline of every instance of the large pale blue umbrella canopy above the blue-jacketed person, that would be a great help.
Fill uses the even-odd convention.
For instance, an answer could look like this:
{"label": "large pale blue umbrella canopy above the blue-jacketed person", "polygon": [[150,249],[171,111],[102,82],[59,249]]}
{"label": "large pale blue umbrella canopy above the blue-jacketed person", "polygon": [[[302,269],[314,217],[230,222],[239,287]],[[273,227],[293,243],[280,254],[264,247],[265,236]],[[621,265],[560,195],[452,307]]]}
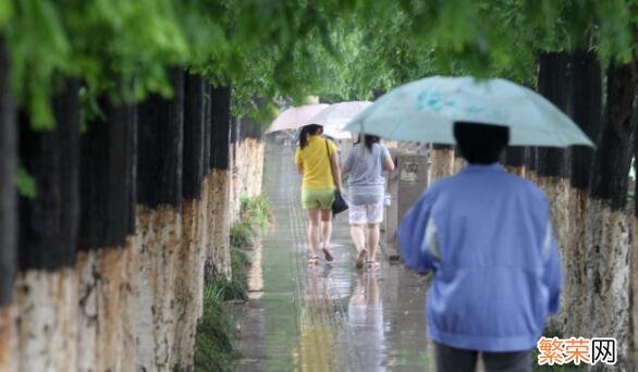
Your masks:
{"label": "large pale blue umbrella canopy above the blue-jacketed person", "polygon": [[395,140],[453,145],[454,122],[508,126],[511,146],[593,146],[545,98],[500,78],[433,76],[408,83],[379,98],[345,129]]}

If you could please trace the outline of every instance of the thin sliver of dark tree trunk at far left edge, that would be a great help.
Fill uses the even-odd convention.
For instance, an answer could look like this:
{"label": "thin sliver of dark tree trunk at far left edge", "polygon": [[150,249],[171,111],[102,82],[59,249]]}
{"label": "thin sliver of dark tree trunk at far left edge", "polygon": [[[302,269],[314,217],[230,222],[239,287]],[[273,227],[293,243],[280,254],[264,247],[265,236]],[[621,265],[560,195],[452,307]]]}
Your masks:
{"label": "thin sliver of dark tree trunk at far left edge", "polygon": [[17,162],[15,107],[10,94],[9,58],[0,38],[0,371],[11,371],[13,282],[17,263]]}

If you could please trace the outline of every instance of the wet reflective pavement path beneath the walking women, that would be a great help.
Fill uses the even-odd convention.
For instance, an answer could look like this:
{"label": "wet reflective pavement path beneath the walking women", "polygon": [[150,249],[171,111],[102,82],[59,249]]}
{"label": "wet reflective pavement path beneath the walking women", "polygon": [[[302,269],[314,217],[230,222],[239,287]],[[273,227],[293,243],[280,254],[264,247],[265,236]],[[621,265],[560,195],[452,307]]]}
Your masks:
{"label": "wet reflective pavement path beneath the walking women", "polygon": [[275,216],[250,252],[240,371],[429,371],[426,278],[389,263],[357,271],[347,213],[333,224],[331,263],[309,266],[306,216],[293,148],[268,144],[263,194]]}

